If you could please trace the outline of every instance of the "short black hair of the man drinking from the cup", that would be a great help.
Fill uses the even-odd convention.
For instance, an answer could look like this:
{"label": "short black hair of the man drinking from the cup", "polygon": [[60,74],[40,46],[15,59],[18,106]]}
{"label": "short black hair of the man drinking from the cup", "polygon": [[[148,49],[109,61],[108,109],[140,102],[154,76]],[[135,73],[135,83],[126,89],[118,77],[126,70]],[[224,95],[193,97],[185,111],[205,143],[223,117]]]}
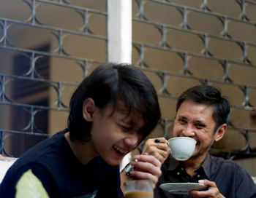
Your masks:
{"label": "short black hair of the man drinking from the cup", "polygon": [[214,107],[213,119],[216,123],[214,131],[222,124],[227,123],[227,117],[230,113],[230,103],[227,99],[222,98],[221,93],[216,87],[208,84],[191,87],[178,97],[176,112],[184,100],[192,100],[195,103],[203,103]]}

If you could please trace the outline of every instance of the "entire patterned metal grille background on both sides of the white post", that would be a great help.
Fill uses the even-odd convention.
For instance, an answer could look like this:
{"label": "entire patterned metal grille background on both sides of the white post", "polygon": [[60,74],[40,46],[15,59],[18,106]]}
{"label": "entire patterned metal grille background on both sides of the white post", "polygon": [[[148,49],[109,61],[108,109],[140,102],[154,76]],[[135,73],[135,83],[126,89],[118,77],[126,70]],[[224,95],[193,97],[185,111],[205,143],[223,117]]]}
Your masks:
{"label": "entire patterned metal grille background on both sides of the white post", "polygon": [[[0,57],[0,116],[5,118],[0,121],[0,153],[11,155],[6,146],[12,143],[8,142],[12,136],[48,137],[48,132],[37,130],[35,124],[40,112],[49,113],[49,126],[56,124],[54,118],[59,113],[67,115],[66,98],[80,79],[108,61],[108,12],[105,0],[97,0],[97,3],[24,0],[10,7],[8,2],[0,1],[0,7],[23,7],[24,11],[21,17],[0,14],[0,56],[10,58],[20,54],[29,61],[29,68],[16,75],[12,63]],[[232,139],[236,134],[244,138],[238,138],[241,142],[238,150],[224,142],[225,151],[217,150],[218,155],[255,157],[256,127],[249,123],[256,114],[255,1],[133,0],[132,4],[132,63],[145,71],[154,83],[163,111],[162,123],[153,136],[170,138],[178,95],[192,85],[208,83],[219,87],[232,104],[227,137]],[[233,11],[222,7],[232,7]],[[34,50],[39,49],[38,35],[42,37],[41,44],[50,43],[50,50]],[[20,41],[19,36],[28,39],[29,44]],[[50,59],[48,77],[43,77],[39,71],[39,60],[45,57]],[[20,80],[48,87],[47,93],[37,97],[50,97],[49,103],[38,105],[12,98],[13,82]],[[16,108],[18,111],[25,109],[29,119],[23,126],[12,127],[10,122]],[[246,124],[239,122],[239,115]],[[48,131],[56,132],[56,127]]]}

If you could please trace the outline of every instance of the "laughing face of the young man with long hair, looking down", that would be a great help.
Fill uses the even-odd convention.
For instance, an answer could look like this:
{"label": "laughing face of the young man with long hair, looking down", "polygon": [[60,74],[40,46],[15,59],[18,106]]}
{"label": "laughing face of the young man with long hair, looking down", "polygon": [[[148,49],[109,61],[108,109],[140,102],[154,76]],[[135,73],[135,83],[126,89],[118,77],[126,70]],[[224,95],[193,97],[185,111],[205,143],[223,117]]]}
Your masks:
{"label": "laughing face of the young man with long hair, looking down", "polygon": [[143,120],[134,120],[134,116],[127,116],[125,111],[113,111],[111,105],[103,112],[99,108],[95,111],[91,142],[95,152],[109,165],[119,165],[124,156],[134,150],[143,138],[143,134],[138,132],[143,126]]}

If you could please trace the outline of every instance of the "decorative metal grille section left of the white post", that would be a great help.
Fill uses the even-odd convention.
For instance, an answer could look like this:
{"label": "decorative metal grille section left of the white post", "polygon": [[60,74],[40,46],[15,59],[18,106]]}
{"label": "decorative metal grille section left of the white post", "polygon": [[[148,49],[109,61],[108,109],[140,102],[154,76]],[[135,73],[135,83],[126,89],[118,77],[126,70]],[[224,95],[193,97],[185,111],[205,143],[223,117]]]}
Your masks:
{"label": "decorative metal grille section left of the white post", "polygon": [[[103,11],[86,7],[86,2],[77,2],[75,4],[73,1],[71,4],[69,1],[65,0],[23,0],[12,2],[12,4],[10,4],[10,1],[2,1],[0,3],[1,8],[9,9],[8,12],[10,12],[12,9],[15,9],[15,7],[20,6],[23,8],[17,9],[18,12],[16,13],[12,10],[12,13],[15,13],[16,15],[0,17],[1,53],[7,54],[7,56],[10,55],[11,57],[14,57],[15,55],[22,56],[23,60],[27,64],[25,66],[22,63],[24,61],[16,61],[15,66],[12,68],[12,63],[1,63],[0,116],[2,118],[8,116],[7,119],[10,119],[10,122],[16,122],[12,124],[6,124],[4,123],[5,121],[3,121],[1,123],[0,154],[11,156],[14,153],[13,150],[15,150],[13,147],[28,143],[28,141],[23,140],[24,137],[21,135],[25,135],[27,139],[29,136],[49,137],[50,134],[48,134],[48,131],[42,131],[36,125],[36,123],[42,119],[40,117],[40,112],[47,111],[48,114],[49,112],[53,111],[63,111],[67,114],[68,104],[64,103],[64,99],[62,98],[64,91],[76,87],[78,85],[79,79],[83,79],[83,76],[88,74],[90,68],[92,69],[99,64],[106,63],[106,46],[108,41],[106,36],[106,2],[99,1],[98,3],[101,7],[104,8]],[[26,13],[20,13],[22,12],[20,10],[25,10],[24,12]],[[56,12],[56,15],[54,15],[54,12]],[[20,20],[22,17],[18,16],[19,14],[26,14],[27,17]],[[56,18],[51,18],[53,15]],[[66,25],[64,28],[61,27],[61,25],[65,23],[65,20],[69,19],[66,17],[66,15],[75,15],[74,17],[80,22],[77,23],[78,26],[74,28],[71,23],[71,25]],[[18,19],[13,19],[15,17]],[[43,21],[39,17],[42,17]],[[55,20],[58,20],[58,23],[52,23]],[[97,20],[97,23],[102,25],[103,30],[101,29],[98,31],[97,29],[91,29],[91,26],[93,26],[91,24],[94,23],[94,20]],[[17,41],[19,37],[23,38],[23,35],[28,34],[28,31],[32,34],[29,36],[29,38],[26,38],[25,36],[25,38],[28,39],[29,47],[26,46],[26,44],[20,44],[20,42]],[[50,40],[50,50],[45,50],[42,48],[39,48],[39,50],[31,49],[31,45],[34,46],[37,44],[37,41],[33,40],[39,38],[39,36],[42,37],[42,35],[39,34],[40,32],[43,32],[43,34],[46,35],[47,42]],[[15,35],[15,33],[17,39],[13,39],[13,35]],[[81,56],[78,52],[73,52],[74,50],[68,47],[70,41],[67,40],[70,37],[73,37],[73,40],[79,38],[81,42],[83,39],[93,39],[95,43],[98,42],[99,44],[102,44],[101,48],[103,49],[103,55],[99,55],[99,59],[97,60],[97,58],[91,59],[90,57],[87,58],[86,55]],[[45,44],[44,41],[41,43]],[[87,49],[88,47],[91,46],[87,46]],[[97,50],[91,51],[94,51],[95,55],[97,55]],[[58,60],[59,62],[67,61],[69,67],[74,67],[74,69],[71,69],[71,71],[78,70],[82,75],[78,76],[78,78],[75,77],[73,82],[69,81],[69,79],[67,79],[67,81],[58,81],[58,74],[51,77],[51,74],[45,76],[45,71],[41,69],[41,62],[45,58],[48,58],[51,61],[54,60],[56,65],[61,64],[58,63]],[[48,68],[49,70],[58,69],[55,68],[56,66],[54,66],[54,63],[50,64],[50,68]],[[64,70],[65,68],[62,69]],[[8,74],[8,71],[10,71],[10,74]],[[72,74],[70,75],[72,76]],[[12,87],[16,87],[15,92],[13,92]],[[23,90],[23,92],[20,92],[21,90]],[[45,93],[44,90],[48,90],[48,92]],[[29,92],[31,91],[32,95],[29,95]],[[37,92],[40,93],[38,96]],[[69,92],[71,92],[71,90],[69,90]],[[37,104],[38,100],[49,98],[50,95],[55,95],[55,98],[50,103]],[[9,115],[7,112],[9,112]],[[15,116],[17,115],[21,115],[23,118],[18,117],[15,119]],[[24,119],[24,116],[29,116],[29,118]],[[20,119],[24,120],[19,125],[17,122],[20,122]],[[9,146],[10,149],[8,149],[8,152],[6,145],[14,144],[15,142],[13,139],[15,136],[18,136],[18,140],[23,140],[23,143],[16,144],[15,146]],[[34,142],[34,144],[35,143],[37,143],[37,141]],[[29,146],[31,147],[32,145],[30,144]],[[22,154],[22,152],[20,154]],[[16,155],[15,157],[18,156]]]}

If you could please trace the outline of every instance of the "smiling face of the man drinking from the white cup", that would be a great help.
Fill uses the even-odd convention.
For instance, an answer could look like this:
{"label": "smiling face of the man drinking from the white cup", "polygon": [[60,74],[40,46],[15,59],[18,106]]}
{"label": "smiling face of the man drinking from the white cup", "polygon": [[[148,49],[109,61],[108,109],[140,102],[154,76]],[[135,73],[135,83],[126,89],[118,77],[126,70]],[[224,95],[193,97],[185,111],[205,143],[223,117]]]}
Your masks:
{"label": "smiling face of the man drinking from the white cup", "polygon": [[197,140],[193,157],[206,155],[215,140],[214,107],[184,100],[178,108],[173,136],[186,136]]}

